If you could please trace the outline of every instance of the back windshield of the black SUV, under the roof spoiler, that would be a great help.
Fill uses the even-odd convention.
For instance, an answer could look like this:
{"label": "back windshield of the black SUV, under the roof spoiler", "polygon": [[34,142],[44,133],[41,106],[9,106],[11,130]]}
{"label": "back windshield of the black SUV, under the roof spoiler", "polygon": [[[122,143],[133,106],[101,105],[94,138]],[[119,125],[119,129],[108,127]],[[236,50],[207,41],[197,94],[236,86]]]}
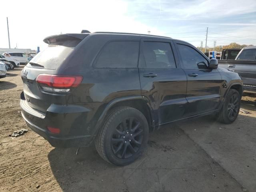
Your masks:
{"label": "back windshield of the black SUV, under the roof spoiler", "polygon": [[45,50],[40,51],[30,62],[28,67],[56,69],[74,50],[80,40],[66,40],[58,44],[49,44]]}

